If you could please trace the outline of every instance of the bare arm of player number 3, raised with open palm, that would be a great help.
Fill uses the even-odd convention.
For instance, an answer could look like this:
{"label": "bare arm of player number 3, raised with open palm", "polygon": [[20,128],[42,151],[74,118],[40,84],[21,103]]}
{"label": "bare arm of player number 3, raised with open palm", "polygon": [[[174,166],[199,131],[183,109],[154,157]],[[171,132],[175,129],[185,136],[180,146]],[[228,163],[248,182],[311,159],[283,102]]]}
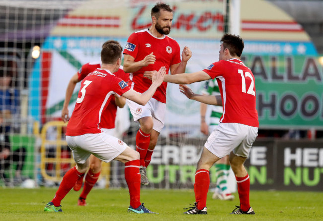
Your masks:
{"label": "bare arm of player number 3, raised with open palm", "polygon": [[122,94],[123,97],[128,98],[140,105],[145,105],[151,97],[153,97],[156,89],[162,84],[163,79],[166,75],[166,67],[161,67],[161,69],[154,73],[152,76],[152,84],[144,93],[140,94],[132,89]]}

